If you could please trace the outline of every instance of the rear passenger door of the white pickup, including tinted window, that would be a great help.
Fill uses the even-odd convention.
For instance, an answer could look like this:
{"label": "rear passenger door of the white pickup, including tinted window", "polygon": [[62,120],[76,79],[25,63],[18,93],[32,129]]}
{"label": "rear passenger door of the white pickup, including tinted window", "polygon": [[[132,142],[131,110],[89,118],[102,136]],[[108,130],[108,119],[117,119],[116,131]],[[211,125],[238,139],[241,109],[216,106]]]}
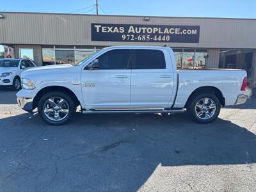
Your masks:
{"label": "rear passenger door of the white pickup, including tinted window", "polygon": [[172,105],[173,77],[167,50],[133,49],[131,107],[169,108]]}

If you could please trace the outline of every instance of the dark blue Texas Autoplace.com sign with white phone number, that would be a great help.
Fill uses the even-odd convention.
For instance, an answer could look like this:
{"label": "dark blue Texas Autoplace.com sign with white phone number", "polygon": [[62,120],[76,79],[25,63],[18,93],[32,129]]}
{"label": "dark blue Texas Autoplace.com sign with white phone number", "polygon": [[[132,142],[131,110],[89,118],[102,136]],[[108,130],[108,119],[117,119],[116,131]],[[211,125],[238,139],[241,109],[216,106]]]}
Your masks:
{"label": "dark blue Texas Autoplace.com sign with white phone number", "polygon": [[91,25],[92,41],[198,43],[200,26]]}

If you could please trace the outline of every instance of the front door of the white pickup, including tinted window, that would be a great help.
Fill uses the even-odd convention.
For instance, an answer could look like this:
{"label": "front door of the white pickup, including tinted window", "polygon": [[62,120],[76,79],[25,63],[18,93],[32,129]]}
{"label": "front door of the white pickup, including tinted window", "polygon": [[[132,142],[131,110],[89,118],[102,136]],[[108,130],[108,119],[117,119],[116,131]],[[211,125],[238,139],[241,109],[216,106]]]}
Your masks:
{"label": "front door of the white pickup, including tinted window", "polygon": [[81,74],[86,109],[131,108],[130,49],[115,49],[100,55],[99,68],[84,68]]}

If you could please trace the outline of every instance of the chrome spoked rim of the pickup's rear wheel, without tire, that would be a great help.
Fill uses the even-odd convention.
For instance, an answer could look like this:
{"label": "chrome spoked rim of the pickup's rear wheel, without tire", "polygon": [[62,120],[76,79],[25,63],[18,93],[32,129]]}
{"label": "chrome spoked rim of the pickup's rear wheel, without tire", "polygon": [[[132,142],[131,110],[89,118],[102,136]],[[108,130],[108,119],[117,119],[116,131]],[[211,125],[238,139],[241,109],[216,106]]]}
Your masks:
{"label": "chrome spoked rim of the pickup's rear wheel, without tire", "polygon": [[195,112],[198,118],[209,120],[216,112],[216,104],[211,98],[204,97],[196,103]]}

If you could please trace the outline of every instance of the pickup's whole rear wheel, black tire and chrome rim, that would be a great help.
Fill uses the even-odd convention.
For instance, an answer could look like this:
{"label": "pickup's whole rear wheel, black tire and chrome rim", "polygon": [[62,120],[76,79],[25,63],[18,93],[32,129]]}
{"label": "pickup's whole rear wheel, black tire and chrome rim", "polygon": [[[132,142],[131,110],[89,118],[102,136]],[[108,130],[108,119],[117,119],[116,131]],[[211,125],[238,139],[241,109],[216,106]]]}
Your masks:
{"label": "pickup's whole rear wheel, black tire and chrome rim", "polygon": [[220,114],[220,100],[213,93],[198,93],[188,102],[191,118],[200,124],[215,120]]}

